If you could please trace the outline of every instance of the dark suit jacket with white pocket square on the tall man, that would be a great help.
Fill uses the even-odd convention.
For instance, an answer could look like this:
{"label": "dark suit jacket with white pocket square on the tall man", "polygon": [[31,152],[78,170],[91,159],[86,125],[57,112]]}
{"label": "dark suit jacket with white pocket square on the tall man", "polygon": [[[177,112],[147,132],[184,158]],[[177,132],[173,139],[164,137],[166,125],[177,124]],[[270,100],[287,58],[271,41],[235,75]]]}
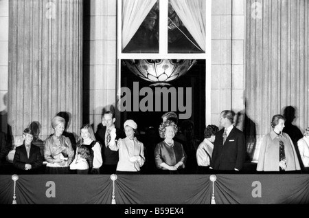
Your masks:
{"label": "dark suit jacket with white pocket square on the tall man", "polygon": [[218,171],[233,171],[234,168],[241,170],[246,157],[244,133],[233,127],[223,144],[224,130],[216,133],[210,167]]}

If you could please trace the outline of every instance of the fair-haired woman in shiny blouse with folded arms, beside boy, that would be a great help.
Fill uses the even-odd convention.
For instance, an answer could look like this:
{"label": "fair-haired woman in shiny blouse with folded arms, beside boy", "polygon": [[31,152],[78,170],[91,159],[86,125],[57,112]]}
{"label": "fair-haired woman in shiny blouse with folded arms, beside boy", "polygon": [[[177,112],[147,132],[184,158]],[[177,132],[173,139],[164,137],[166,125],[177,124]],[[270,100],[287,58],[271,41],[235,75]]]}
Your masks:
{"label": "fair-haired woman in shiny blouse with folded arms, beside boy", "polygon": [[65,119],[60,116],[54,117],[52,127],[55,133],[46,139],[44,146],[46,173],[69,174],[69,164],[73,161],[74,151],[69,138],[62,135]]}

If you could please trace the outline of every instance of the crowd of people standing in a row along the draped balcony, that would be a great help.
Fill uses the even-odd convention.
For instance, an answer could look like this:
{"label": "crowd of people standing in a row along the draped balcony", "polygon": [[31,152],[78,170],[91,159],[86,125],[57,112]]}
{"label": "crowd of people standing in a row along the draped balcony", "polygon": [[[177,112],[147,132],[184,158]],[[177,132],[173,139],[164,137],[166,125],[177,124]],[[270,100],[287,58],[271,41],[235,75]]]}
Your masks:
{"label": "crowd of people standing in a row along the draped balcony", "polygon": [[[66,120],[52,119],[54,133],[43,153],[34,143],[31,127],[23,131],[23,144],[14,153],[14,172],[25,174],[210,174],[242,173],[246,159],[244,133],[237,129],[233,111],[220,113],[220,127],[205,127],[204,140],[194,136],[194,123],[178,124],[176,113],[163,114],[159,129],[150,128],[141,140],[138,124],[126,120],[115,127],[115,114],[106,111],[96,133],[83,124],[77,142],[65,136]],[[296,142],[284,133],[286,118],[275,115],[272,131],[262,138],[256,172],[303,173],[309,168],[309,127]],[[148,138],[147,138],[148,137]],[[144,143],[143,143],[144,142]],[[0,161],[10,149],[0,133]]]}

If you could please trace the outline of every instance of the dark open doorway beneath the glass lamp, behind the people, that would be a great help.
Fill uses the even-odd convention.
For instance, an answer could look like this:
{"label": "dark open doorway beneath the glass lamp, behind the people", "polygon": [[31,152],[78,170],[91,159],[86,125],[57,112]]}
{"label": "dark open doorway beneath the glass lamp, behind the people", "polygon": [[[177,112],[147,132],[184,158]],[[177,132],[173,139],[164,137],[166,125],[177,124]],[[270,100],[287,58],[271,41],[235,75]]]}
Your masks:
{"label": "dark open doorway beneath the glass lamp, behind the people", "polygon": [[[198,60],[197,63],[187,72],[187,74],[177,78],[176,80],[172,80],[167,86],[169,89],[170,87],[176,88],[179,90],[179,87],[183,87],[185,90],[187,87],[192,88],[192,116],[189,120],[194,122],[194,133],[196,137],[200,140],[203,140],[203,131],[205,129],[205,60]],[[144,96],[133,96],[133,83],[138,82],[139,90],[143,87],[150,87],[152,91],[155,93],[155,87],[152,87],[152,83],[143,80],[130,72],[130,70],[122,65],[121,69],[121,87],[128,87],[131,90],[131,111],[124,111],[120,112],[120,127],[123,128],[123,124],[125,120],[132,119],[137,122],[138,130],[141,134],[145,133],[149,127],[155,127],[156,129],[162,122],[161,116],[166,111],[155,111],[155,100],[154,100],[154,111],[133,111],[133,98],[139,98],[138,102],[140,102]],[[178,92],[177,92],[178,94]],[[184,93],[184,104],[187,105],[185,102],[186,92]],[[170,100],[169,96],[169,100]],[[162,101],[162,98],[161,98]],[[161,102],[162,108],[163,102]],[[178,100],[177,100],[178,104]],[[171,109],[169,105],[169,110]],[[175,111],[177,115],[179,113],[185,113],[179,111],[179,107],[177,107],[177,111]],[[181,125],[183,120],[179,120],[179,125]]]}

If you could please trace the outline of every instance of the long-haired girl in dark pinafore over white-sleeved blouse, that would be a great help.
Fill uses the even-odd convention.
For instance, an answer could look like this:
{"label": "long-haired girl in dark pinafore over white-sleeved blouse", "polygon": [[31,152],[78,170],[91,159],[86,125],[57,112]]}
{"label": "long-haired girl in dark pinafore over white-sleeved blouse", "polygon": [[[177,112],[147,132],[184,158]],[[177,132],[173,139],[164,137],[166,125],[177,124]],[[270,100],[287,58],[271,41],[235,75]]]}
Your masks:
{"label": "long-haired girl in dark pinafore over white-sleeved blouse", "polygon": [[87,158],[89,173],[99,174],[100,167],[103,163],[101,145],[95,140],[95,135],[90,124],[84,124],[82,125],[82,128],[80,128],[80,140],[78,141],[78,146],[84,146],[90,151],[90,155]]}

